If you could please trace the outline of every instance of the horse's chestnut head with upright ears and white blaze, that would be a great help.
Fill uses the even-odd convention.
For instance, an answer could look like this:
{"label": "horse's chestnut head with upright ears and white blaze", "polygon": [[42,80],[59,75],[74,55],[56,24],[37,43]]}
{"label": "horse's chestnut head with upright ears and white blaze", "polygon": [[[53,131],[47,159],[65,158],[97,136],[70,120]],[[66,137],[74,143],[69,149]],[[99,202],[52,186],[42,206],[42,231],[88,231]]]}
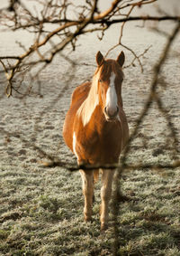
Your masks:
{"label": "horse's chestnut head with upright ears and white blaze", "polygon": [[119,119],[121,108],[121,82],[123,81],[122,65],[125,56],[121,52],[117,60],[104,60],[101,52],[96,54],[98,65],[96,75],[100,104],[107,121]]}

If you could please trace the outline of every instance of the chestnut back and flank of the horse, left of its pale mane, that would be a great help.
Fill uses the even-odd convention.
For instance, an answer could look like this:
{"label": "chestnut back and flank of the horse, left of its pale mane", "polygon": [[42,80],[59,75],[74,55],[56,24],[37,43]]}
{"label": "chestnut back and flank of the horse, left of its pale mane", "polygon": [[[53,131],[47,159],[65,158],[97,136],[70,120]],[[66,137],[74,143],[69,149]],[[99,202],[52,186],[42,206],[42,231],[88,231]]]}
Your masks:
{"label": "chestnut back and flank of the horse, left of its pale mane", "polygon": [[63,127],[63,137],[67,146],[73,151],[73,127],[74,120],[76,117],[76,111],[79,109],[81,104],[85,101],[91,88],[91,82],[85,82],[73,91],[71,97],[70,107],[67,111],[66,119]]}

